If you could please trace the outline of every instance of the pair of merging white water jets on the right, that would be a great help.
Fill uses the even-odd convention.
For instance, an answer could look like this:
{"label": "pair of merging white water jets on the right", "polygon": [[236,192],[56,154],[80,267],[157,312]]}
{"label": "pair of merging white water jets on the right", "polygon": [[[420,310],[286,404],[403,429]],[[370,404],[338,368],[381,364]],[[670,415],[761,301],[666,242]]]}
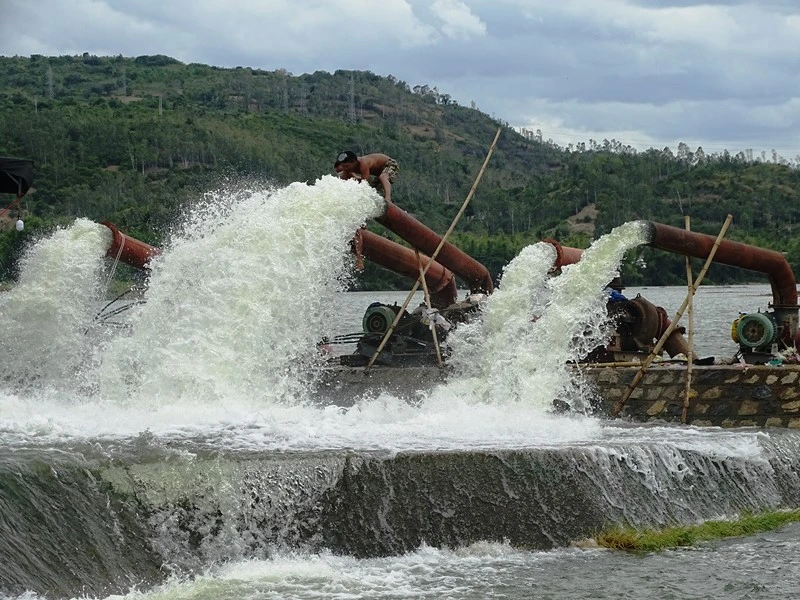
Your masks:
{"label": "pair of merging white water jets on the right", "polygon": [[525,248],[505,268],[483,322],[454,336],[461,377],[451,385],[482,401],[545,410],[560,399],[585,408],[567,363],[607,341],[604,288],[625,252],[644,243],[645,236],[641,223],[621,225],[592,244],[580,262],[550,278],[552,246]]}

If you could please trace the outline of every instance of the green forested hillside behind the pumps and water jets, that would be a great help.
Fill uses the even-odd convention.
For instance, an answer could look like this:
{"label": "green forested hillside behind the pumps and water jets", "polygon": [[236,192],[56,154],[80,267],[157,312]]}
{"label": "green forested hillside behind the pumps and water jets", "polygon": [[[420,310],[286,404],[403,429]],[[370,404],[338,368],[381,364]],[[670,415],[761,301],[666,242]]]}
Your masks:
{"label": "green forested hillside behind the pumps and water jets", "polygon": [[[0,228],[0,277],[26,236],[76,216],[158,244],[181,207],[226,182],[313,182],[343,149],[401,165],[393,199],[438,231],[457,212],[495,131],[498,148],[454,236],[493,273],[523,246],[585,247],[634,219],[788,253],[800,269],[800,173],[778,156],[707,155],[685,145],[636,152],[614,140],[560,148],[443,91],[369,72],[222,69],[165,56],[0,57],[0,155],[36,162],[22,235]],[[9,199],[10,201],[10,199]],[[380,231],[379,226],[374,227]],[[678,257],[642,251],[631,284],[682,283]],[[713,281],[755,279],[715,268]],[[366,286],[396,279],[371,269]]]}

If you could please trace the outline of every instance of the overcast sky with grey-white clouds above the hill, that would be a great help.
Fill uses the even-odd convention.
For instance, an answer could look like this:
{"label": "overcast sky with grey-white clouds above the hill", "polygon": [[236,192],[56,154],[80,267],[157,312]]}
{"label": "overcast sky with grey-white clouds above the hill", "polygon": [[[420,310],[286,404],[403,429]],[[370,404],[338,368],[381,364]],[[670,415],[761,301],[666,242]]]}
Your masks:
{"label": "overcast sky with grey-white clouds above the hill", "polygon": [[800,0],[0,0],[0,54],[437,86],[559,145],[800,155]]}

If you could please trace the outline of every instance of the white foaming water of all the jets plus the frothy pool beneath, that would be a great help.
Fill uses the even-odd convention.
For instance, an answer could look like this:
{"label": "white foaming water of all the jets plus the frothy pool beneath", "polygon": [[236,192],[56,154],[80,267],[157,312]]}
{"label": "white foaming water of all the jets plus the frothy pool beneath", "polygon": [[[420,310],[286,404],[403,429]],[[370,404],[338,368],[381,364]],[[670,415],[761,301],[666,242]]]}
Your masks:
{"label": "white foaming water of all the jets plus the frothy pool beneath", "polygon": [[[76,337],[102,287],[108,231],[79,220],[57,232],[29,255],[20,285],[4,298],[5,314],[16,315],[29,339],[39,336],[17,356],[33,361],[50,341],[83,345],[79,355],[94,350],[95,363],[79,383],[64,377],[64,385],[0,391],[3,439],[103,443],[148,432],[156,442],[220,448],[386,452],[602,442],[598,421],[547,411],[569,379],[564,363],[583,351],[575,337],[599,331],[602,288],[624,250],[640,241],[630,226],[596,242],[557,278],[547,275],[549,244],[520,253],[485,319],[455,336],[460,377],[419,403],[384,394],[349,409],[309,405],[303,369],[336,322],[332,298],[347,276],[349,240],[381,206],[371,188],[333,177],[211,196],[153,261],[130,334],[110,343]],[[44,324],[33,318],[48,311],[55,318]]]}

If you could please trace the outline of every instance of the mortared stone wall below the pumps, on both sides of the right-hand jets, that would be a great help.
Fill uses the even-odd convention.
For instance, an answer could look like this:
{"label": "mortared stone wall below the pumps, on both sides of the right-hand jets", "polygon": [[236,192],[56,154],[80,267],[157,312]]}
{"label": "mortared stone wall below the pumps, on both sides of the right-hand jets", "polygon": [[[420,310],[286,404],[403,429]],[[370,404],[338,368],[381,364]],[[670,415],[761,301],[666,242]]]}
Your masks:
{"label": "mortared stone wall below the pumps, on both sides of the right-hand jets", "polygon": [[[588,380],[598,415],[611,415],[633,381],[638,367],[575,366]],[[381,391],[415,402],[444,382],[447,369],[434,365],[326,369],[317,385],[321,404],[352,406]],[[620,418],[635,422],[680,423],[686,389],[685,365],[654,365],[631,394]],[[800,429],[800,365],[695,366],[687,410],[688,424],[718,427],[789,427]]]}

